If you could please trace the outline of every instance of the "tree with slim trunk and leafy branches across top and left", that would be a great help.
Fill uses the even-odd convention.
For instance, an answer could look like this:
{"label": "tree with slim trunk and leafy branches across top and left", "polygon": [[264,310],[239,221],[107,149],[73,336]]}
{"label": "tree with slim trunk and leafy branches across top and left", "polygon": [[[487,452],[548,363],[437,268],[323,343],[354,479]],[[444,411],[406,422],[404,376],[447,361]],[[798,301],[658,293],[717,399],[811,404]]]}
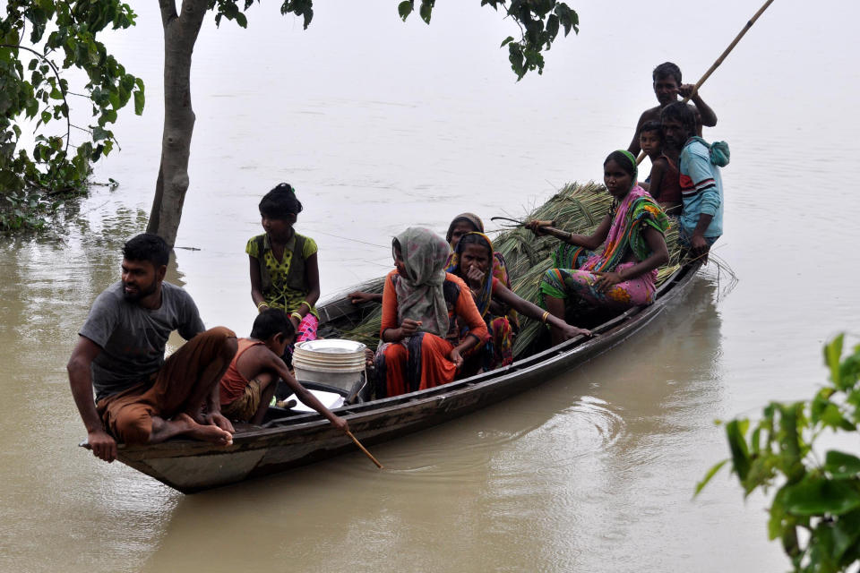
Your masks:
{"label": "tree with slim trunk and leafy branches across top and left", "polygon": [[[306,29],[314,17],[313,0],[281,1],[280,13],[292,13],[303,18]],[[416,0],[403,0],[397,9],[404,21],[417,9],[421,19],[429,24],[434,4],[435,0],[420,0],[418,3]],[[177,8],[176,0],[159,0],[164,27],[165,117],[161,161],[147,230],[161,235],[168,244],[174,244],[176,240],[185,193],[190,184],[188,161],[194,126],[191,99],[194,43],[207,13],[214,14],[216,25],[226,18],[245,28],[245,11],[252,5],[254,0],[182,0]],[[503,17],[510,17],[520,27],[519,39],[510,36],[502,42],[502,47],[507,47],[508,59],[518,81],[529,71],[543,72],[543,52],[552,47],[559,31],[563,30],[565,36],[571,30],[579,31],[577,14],[567,4],[556,0],[481,0],[481,5],[488,5]],[[125,69],[95,39],[97,33],[108,25],[114,29],[127,28],[133,24],[134,17],[131,7],[119,0],[10,0],[6,16],[0,21],[0,88],[3,88],[0,93],[10,87],[10,93],[14,94],[9,98],[0,96],[0,127],[3,129],[0,133],[0,184],[3,184],[3,189],[28,192],[29,197],[40,198],[56,193],[57,188],[64,185],[61,182],[68,184],[71,181],[73,188],[82,189],[90,173],[90,162],[107,154],[113,146],[113,133],[107,130],[106,125],[116,121],[118,109],[133,96],[135,111],[141,113],[142,81],[125,73]],[[32,47],[22,46],[22,32],[28,25]],[[56,27],[56,32],[52,32],[46,41],[44,34],[48,25]],[[60,49],[65,57],[62,64],[57,65],[51,58]],[[34,55],[29,69],[38,73],[30,78],[23,72],[23,51]],[[21,128],[17,122],[22,116],[36,117],[40,106],[49,106],[51,98],[57,102],[41,111],[39,124],[52,118],[68,119],[70,109],[65,98],[68,85],[60,71],[71,67],[79,67],[90,76],[85,90],[92,100],[97,125],[89,126],[86,133],[90,140],[77,148],[73,158],[69,158],[67,152],[70,133],[53,138],[37,136],[37,147],[30,156],[18,149]],[[71,132],[72,127],[70,123],[67,131]],[[58,174],[72,174],[73,178],[66,179]],[[4,192],[6,201],[12,201],[19,208],[30,205],[19,201],[20,197]],[[38,204],[39,201],[36,202]],[[20,209],[19,212],[23,214]],[[2,213],[3,207],[0,207]],[[9,227],[13,226],[0,218],[0,228]]]}

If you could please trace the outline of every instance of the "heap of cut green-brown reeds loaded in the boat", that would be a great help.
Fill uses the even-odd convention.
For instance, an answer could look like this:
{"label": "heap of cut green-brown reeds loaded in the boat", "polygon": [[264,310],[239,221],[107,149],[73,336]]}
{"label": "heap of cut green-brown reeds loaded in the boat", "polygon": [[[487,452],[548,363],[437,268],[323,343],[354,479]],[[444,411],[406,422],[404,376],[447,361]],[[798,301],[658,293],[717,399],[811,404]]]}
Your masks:
{"label": "heap of cut green-brown reeds loaded in the boat", "polygon": [[[612,205],[612,196],[602,184],[567,184],[555,196],[533,210],[524,220],[551,219],[555,227],[581,235],[589,235],[606,217]],[[666,235],[669,250],[669,263],[658,269],[658,285],[678,269],[680,247],[678,231],[670,227]],[[531,231],[518,227],[497,235],[493,241],[497,252],[504,255],[512,290],[520,297],[541,304],[538,284],[540,278],[552,264],[552,253],[558,246],[558,239],[551,236],[535,236]],[[376,286],[376,285],[374,285]],[[382,283],[370,292],[382,292]],[[382,311],[377,310],[355,329],[345,331],[343,338],[364,342],[375,347],[382,323]],[[520,317],[520,334],[513,347],[513,354],[522,355],[538,337],[543,324]]]}

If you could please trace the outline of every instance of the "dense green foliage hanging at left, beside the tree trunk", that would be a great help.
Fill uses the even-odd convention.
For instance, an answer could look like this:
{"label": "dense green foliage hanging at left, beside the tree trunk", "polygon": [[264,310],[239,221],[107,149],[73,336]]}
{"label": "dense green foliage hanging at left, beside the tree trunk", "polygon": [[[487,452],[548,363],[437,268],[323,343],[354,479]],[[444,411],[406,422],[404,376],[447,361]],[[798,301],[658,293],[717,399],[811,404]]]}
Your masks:
{"label": "dense green foliage hanging at left, beside the tree trunk", "polygon": [[[41,227],[43,216],[70,194],[83,192],[90,164],[113,150],[109,124],[132,98],[141,114],[143,82],[125,72],[98,39],[126,29],[135,15],[119,0],[9,0],[0,20],[0,231]],[[84,94],[73,93],[60,71],[86,73]],[[88,98],[91,118],[73,124],[69,98]],[[22,123],[32,122],[30,150]],[[47,124],[58,123],[58,133]],[[83,141],[72,143],[75,135]]]}

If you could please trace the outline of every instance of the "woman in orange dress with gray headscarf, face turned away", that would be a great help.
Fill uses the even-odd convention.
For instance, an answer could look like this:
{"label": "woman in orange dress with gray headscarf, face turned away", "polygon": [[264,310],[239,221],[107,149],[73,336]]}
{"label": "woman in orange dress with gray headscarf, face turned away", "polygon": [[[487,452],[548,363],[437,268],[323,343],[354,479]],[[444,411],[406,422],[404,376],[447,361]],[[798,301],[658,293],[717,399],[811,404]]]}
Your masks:
{"label": "woman in orange dress with gray headscarf, face turned away", "polygon": [[[489,337],[469,287],[445,272],[451,248],[441,236],[409,227],[391,249],[396,269],[383,287],[377,398],[453,381],[463,353]],[[463,336],[458,324],[466,329]]]}

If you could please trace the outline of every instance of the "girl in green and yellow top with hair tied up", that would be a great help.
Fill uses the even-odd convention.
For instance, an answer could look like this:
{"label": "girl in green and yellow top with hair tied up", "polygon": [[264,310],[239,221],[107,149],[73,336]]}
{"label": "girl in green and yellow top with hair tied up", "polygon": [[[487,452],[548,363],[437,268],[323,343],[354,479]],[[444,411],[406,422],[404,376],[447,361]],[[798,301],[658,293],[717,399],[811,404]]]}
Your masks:
{"label": "girl in green and yellow top with hair tied up", "polygon": [[260,201],[265,233],[252,237],[245,246],[257,311],[278,308],[287,312],[296,327],[297,342],[316,339],[319,320],[314,304],[320,298],[316,243],[294,228],[301,212],[302,203],[292,186],[279,184]]}

